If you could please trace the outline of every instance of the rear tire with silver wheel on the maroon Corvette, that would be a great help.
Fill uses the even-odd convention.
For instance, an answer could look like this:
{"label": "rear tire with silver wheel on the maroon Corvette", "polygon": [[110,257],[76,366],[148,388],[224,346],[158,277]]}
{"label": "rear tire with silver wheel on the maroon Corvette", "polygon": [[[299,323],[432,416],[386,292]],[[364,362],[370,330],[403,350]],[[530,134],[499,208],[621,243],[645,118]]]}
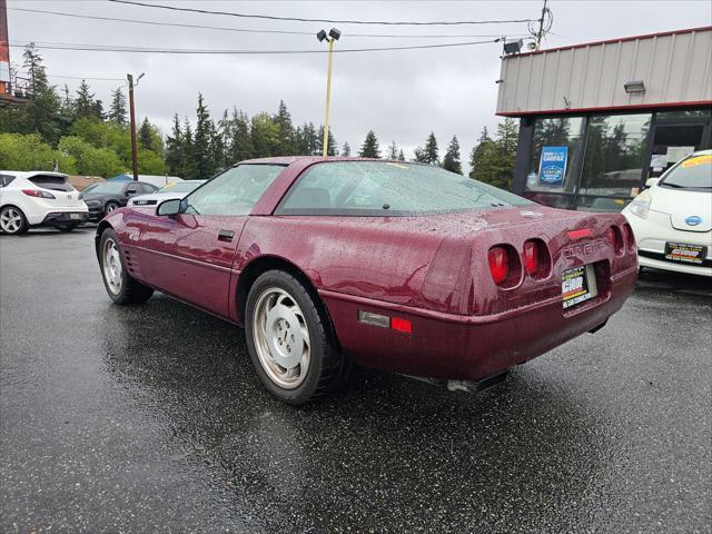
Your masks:
{"label": "rear tire with silver wheel on the maroon Corvette", "polygon": [[334,390],[349,368],[325,313],[304,285],[283,270],[264,273],[250,288],[245,334],[259,379],[291,405]]}

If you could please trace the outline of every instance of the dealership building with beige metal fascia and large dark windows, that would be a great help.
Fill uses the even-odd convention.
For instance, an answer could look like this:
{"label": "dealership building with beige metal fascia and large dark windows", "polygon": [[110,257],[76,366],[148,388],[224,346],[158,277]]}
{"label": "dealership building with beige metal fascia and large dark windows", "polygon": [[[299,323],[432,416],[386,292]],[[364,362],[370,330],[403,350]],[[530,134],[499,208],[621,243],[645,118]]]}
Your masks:
{"label": "dealership building with beige metal fascia and large dark windows", "polygon": [[712,27],[505,55],[497,115],[516,117],[513,190],[620,211],[712,146]]}

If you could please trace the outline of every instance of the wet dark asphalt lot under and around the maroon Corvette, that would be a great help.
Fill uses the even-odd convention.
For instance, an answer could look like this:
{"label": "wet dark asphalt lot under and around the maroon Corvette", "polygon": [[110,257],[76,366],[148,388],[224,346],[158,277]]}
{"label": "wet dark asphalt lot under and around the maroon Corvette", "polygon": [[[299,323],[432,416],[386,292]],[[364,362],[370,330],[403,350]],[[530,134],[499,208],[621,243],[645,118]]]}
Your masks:
{"label": "wet dark asphalt lot under and around the maroon Corvette", "polygon": [[93,229],[0,236],[0,531],[709,533],[712,285],[479,395],[373,370],[274,400],[240,329],[112,305]]}

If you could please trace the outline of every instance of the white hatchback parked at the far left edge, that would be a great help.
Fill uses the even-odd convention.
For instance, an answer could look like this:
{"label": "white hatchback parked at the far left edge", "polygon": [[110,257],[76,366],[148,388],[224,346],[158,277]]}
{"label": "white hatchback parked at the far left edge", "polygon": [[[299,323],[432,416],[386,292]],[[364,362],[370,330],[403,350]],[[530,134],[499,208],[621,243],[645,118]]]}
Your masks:
{"label": "white hatchback parked at the far left edge", "polygon": [[24,234],[32,226],[71,231],[89,217],[81,194],[60,172],[0,170],[0,231]]}

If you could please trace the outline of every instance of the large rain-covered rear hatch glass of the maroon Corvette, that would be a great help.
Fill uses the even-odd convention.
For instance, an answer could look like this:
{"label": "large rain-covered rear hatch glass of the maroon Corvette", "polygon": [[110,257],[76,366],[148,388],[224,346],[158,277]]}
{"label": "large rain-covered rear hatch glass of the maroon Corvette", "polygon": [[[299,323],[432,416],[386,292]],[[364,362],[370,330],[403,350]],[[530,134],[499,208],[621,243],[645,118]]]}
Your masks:
{"label": "large rain-covered rear hatch glass of the maroon Corvette", "polygon": [[413,216],[532,202],[439,167],[389,161],[318,164],[299,177],[279,215]]}

